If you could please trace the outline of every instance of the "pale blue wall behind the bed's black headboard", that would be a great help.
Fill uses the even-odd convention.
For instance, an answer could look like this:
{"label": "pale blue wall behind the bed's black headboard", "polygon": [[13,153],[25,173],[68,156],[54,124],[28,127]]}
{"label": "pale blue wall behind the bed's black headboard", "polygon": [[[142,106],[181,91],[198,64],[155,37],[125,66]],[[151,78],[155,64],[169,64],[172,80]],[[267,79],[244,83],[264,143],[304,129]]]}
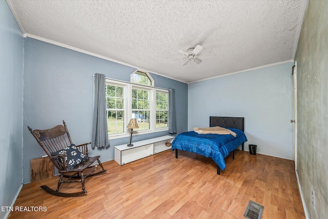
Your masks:
{"label": "pale blue wall behind the bed's black headboard", "polygon": [[188,130],[208,127],[209,116],[245,117],[248,144],[293,160],[293,63],[189,84]]}

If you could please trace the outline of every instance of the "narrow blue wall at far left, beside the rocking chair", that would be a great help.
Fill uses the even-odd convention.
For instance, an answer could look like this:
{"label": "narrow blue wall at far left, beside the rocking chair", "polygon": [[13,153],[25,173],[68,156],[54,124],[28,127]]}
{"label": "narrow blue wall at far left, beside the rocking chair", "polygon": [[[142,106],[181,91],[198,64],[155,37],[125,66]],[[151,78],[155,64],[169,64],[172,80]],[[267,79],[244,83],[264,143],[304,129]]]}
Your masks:
{"label": "narrow blue wall at far left, beside the rocking chair", "polygon": [[6,1],[0,10],[0,206],[11,206],[23,178],[24,38]]}

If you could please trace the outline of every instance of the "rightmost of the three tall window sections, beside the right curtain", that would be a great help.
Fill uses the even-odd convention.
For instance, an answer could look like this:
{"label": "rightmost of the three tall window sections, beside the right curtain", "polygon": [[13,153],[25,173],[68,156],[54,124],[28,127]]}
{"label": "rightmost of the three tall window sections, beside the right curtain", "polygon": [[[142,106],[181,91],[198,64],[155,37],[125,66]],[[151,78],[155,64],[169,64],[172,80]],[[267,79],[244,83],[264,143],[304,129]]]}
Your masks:
{"label": "rightmost of the three tall window sections, beside the right curtain", "polygon": [[156,91],[156,129],[168,126],[169,108],[168,108],[169,93]]}

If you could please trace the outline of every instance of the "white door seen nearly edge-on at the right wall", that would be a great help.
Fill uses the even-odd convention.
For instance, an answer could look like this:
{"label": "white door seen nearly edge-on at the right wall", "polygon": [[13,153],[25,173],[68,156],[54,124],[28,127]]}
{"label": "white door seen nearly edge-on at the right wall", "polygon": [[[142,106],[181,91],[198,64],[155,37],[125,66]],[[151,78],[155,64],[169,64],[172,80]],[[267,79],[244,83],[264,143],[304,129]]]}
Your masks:
{"label": "white door seen nearly edge-on at the right wall", "polygon": [[297,170],[297,81],[296,81],[296,62],[293,66],[292,74],[293,74],[293,119],[291,123],[293,123],[293,148],[294,148],[294,162],[295,162],[295,170]]}

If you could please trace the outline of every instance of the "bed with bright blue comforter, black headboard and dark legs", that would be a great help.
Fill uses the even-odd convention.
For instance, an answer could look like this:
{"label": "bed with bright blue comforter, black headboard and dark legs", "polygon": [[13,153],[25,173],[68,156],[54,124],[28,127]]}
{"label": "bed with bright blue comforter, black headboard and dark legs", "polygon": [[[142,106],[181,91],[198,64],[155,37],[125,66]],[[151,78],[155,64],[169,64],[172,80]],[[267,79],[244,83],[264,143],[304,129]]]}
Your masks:
{"label": "bed with bright blue comforter, black headboard and dark legs", "polygon": [[223,127],[236,133],[236,137],[231,134],[198,134],[195,131],[182,132],[178,134],[172,142],[172,150],[175,150],[175,158],[178,158],[178,150],[197,153],[206,157],[211,157],[217,164],[217,174],[220,169],[226,168],[224,158],[241,145],[244,150],[244,142],[247,137],[244,134],[244,117],[221,117],[210,116],[210,127]]}

